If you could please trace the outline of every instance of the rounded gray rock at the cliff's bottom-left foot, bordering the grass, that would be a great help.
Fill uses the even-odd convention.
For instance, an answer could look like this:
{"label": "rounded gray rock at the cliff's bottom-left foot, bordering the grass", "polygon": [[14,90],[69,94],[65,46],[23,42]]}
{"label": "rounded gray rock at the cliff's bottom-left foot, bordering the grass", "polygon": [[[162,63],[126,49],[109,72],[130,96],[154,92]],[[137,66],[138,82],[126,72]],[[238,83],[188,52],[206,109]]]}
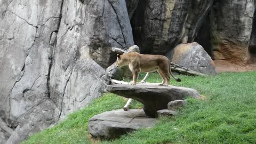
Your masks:
{"label": "rounded gray rock at the cliff's bottom-left foot, bordering the grass", "polygon": [[8,143],[20,143],[28,136],[53,126],[59,120],[59,111],[55,104],[48,98],[41,100],[21,118],[18,127],[14,130]]}

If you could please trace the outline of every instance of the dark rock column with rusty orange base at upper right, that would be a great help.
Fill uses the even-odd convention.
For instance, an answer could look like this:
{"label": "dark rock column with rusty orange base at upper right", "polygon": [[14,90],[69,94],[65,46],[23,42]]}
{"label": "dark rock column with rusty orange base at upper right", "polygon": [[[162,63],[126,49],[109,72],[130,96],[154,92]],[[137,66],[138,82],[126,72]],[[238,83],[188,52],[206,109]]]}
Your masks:
{"label": "dark rock column with rusty orange base at upper right", "polygon": [[212,45],[215,51],[223,55],[223,59],[238,64],[246,63],[249,59],[253,13],[253,1],[227,0],[213,4]]}

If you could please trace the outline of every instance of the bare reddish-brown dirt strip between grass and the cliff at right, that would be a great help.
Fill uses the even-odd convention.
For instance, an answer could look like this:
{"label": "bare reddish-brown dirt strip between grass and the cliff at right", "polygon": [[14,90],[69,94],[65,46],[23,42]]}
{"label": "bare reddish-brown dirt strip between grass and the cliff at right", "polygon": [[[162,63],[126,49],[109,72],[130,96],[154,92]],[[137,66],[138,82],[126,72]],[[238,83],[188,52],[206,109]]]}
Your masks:
{"label": "bare reddish-brown dirt strip between grass and the cliff at right", "polygon": [[243,72],[243,71],[256,71],[256,64],[248,64],[239,66],[235,63],[226,60],[214,60],[215,67],[218,73],[223,72]]}

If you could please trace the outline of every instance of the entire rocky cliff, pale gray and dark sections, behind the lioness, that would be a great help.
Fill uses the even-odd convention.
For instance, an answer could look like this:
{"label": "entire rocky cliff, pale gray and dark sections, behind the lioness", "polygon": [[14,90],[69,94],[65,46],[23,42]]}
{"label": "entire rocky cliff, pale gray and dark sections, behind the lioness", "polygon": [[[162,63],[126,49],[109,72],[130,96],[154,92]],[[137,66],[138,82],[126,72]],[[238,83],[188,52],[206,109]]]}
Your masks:
{"label": "entire rocky cliff, pale gray and dark sections, behind the lioness", "polygon": [[0,143],[19,143],[100,97],[110,48],[166,54],[184,37],[213,59],[255,59],[253,0],[0,2]]}

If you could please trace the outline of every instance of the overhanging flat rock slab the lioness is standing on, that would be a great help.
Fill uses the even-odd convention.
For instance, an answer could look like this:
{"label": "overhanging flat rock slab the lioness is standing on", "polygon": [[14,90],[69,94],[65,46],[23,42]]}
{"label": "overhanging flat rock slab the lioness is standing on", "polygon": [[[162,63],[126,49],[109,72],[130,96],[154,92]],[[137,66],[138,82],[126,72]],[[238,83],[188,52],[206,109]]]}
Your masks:
{"label": "overhanging flat rock slab the lioness is standing on", "polygon": [[158,83],[137,85],[108,85],[107,91],[141,102],[146,115],[157,116],[157,110],[166,109],[170,101],[182,100],[186,97],[200,98],[200,94],[187,87],[159,86]]}

